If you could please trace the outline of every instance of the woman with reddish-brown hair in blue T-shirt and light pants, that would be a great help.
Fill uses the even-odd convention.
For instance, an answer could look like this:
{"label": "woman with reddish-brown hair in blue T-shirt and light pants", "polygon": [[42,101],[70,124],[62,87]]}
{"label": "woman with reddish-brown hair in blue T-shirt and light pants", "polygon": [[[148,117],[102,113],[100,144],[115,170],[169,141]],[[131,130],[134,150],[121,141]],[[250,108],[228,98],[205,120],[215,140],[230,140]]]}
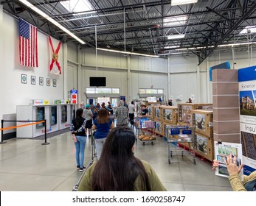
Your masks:
{"label": "woman with reddish-brown hair in blue T-shirt and light pants", "polygon": [[111,128],[114,128],[114,123],[112,119],[108,117],[108,111],[105,109],[100,109],[97,118],[94,120],[94,125],[92,126],[92,129],[97,129],[94,134],[94,139],[98,160],[100,159],[105,138],[107,137]]}

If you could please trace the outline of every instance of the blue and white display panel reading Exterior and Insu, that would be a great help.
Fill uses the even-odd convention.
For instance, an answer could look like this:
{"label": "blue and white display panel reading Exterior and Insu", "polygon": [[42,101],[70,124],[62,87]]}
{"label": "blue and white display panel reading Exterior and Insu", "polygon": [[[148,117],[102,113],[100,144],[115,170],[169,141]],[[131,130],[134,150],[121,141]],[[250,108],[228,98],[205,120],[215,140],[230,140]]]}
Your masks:
{"label": "blue and white display panel reading Exterior and Insu", "polygon": [[256,169],[256,66],[238,70],[243,174]]}

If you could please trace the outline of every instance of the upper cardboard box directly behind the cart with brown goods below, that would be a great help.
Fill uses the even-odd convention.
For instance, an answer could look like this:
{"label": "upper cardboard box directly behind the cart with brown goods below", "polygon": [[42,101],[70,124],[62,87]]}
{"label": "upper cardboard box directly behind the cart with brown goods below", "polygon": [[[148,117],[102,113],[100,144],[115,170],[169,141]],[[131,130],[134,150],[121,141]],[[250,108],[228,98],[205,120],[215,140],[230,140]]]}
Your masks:
{"label": "upper cardboard box directly behind the cart with brown goods below", "polygon": [[161,106],[162,120],[170,123],[177,124],[178,122],[178,107],[176,106]]}

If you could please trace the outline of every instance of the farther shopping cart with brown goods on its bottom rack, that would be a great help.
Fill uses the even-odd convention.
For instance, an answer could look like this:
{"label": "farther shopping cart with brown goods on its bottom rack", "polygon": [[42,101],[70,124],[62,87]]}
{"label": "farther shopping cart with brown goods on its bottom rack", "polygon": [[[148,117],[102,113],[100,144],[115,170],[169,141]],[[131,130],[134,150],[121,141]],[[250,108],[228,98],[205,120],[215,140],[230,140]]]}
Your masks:
{"label": "farther shopping cart with brown goods on its bottom rack", "polygon": [[146,142],[151,142],[153,145],[156,141],[156,137],[153,135],[153,129],[155,129],[155,122],[146,117],[136,117],[136,139],[142,141],[143,145]]}

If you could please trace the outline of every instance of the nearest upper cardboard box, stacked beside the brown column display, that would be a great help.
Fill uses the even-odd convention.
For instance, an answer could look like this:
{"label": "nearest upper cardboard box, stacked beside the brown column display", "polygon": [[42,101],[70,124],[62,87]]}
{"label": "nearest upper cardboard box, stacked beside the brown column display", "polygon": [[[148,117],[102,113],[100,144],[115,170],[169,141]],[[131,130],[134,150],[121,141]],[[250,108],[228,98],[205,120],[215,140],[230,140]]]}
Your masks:
{"label": "nearest upper cardboard box, stacked beside the brown column display", "polygon": [[196,127],[196,132],[207,137],[213,137],[213,115],[210,110],[191,110],[194,115],[193,125]]}

